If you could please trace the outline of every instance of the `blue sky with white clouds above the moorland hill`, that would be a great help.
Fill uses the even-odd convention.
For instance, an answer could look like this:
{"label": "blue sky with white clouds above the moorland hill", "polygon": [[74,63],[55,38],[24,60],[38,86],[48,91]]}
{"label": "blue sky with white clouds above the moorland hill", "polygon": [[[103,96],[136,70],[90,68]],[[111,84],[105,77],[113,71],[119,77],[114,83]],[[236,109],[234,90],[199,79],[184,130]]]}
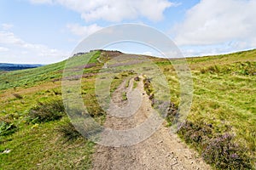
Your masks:
{"label": "blue sky with white clouds above the moorland hill", "polygon": [[[252,49],[255,8],[256,0],[0,0],[0,63],[55,63],[94,32],[123,23],[165,33],[186,57]],[[108,49],[156,54],[136,43]]]}

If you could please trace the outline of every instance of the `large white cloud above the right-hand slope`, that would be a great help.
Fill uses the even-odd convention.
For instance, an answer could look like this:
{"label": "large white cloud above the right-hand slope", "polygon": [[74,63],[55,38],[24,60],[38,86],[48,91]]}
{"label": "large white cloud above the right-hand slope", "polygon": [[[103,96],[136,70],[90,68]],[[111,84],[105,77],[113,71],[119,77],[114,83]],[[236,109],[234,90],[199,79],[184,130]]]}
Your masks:
{"label": "large white cloud above the right-hand slope", "polygon": [[178,45],[211,45],[231,42],[236,48],[256,44],[255,0],[201,0],[174,27]]}

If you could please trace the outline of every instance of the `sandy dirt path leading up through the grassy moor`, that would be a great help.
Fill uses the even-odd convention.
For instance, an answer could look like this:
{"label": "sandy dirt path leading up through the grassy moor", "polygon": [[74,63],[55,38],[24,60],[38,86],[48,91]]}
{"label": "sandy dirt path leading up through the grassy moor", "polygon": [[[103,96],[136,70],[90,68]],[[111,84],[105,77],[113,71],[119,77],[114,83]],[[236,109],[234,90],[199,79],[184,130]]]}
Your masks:
{"label": "sandy dirt path leading up through the grassy moor", "polygon": [[[133,84],[130,81],[131,87]],[[127,105],[127,101],[121,101],[121,95],[126,90],[125,82],[113,93],[113,102],[119,106]],[[113,129],[127,129],[136,127],[144,122],[153,111],[148,95],[143,90],[143,82],[138,83],[137,89],[142,94],[142,105],[139,110],[130,117],[118,118],[107,116],[105,127]],[[93,156],[93,169],[211,169],[194,150],[190,150],[176,134],[169,133],[169,129],[161,125],[150,138],[125,147],[107,147],[96,145],[96,153]]]}

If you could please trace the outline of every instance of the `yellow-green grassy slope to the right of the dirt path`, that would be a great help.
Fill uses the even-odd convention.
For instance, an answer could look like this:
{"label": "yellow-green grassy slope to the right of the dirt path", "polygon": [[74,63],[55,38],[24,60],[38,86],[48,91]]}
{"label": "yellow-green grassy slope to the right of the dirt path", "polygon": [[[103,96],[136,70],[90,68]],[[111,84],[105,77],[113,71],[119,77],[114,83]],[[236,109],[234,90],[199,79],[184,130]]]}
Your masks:
{"label": "yellow-green grassy slope to the right of the dirt path", "polygon": [[[214,168],[255,168],[255,52],[253,50],[239,54],[188,59],[194,80],[193,103],[188,121],[192,127],[197,128],[189,130],[190,126],[183,125],[184,129],[179,134],[185,142],[198,150]],[[177,76],[172,71],[172,66],[168,67],[168,65],[162,66],[161,69],[167,75],[169,84],[172,84],[172,102],[178,105]],[[170,122],[172,120],[171,118]],[[211,137],[207,137],[208,134],[201,134],[199,131],[199,128],[207,128],[207,125],[212,127]],[[224,140],[222,136],[225,133],[228,133],[232,138]],[[199,140],[206,137],[209,145],[203,144],[205,142]],[[218,153],[216,149],[220,145],[213,145],[218,140],[223,141],[224,147],[230,145],[230,154],[224,157],[220,156],[221,154],[224,155],[223,150]],[[230,158],[232,156],[231,150],[234,151],[234,148],[236,148],[237,154],[235,155],[240,156],[239,159]],[[206,156],[206,149],[208,157]],[[250,165],[248,166],[247,163]]]}

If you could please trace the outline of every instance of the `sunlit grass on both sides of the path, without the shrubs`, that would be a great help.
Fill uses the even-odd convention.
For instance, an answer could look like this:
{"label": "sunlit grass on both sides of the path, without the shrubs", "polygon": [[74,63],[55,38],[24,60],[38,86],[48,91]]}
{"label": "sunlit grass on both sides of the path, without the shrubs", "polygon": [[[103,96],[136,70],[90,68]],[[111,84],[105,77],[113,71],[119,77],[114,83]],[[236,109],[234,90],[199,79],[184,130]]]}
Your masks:
{"label": "sunlit grass on both sides of the path, without the shrubs", "polygon": [[[103,123],[106,113],[97,103],[96,74],[102,69],[100,53],[90,60],[81,80],[81,93],[90,116]],[[212,133],[231,133],[234,142],[245,147],[245,153],[255,158],[256,148],[256,50],[236,54],[188,59],[194,94],[188,116],[189,122],[212,125]],[[109,56],[108,56],[109,57]],[[179,79],[167,59],[151,58],[166,75],[171,100],[180,103]],[[52,169],[90,167],[94,144],[79,138],[64,144],[61,133],[55,130],[67,122],[67,116],[58,121],[42,122],[36,126],[27,122],[29,111],[52,99],[61,99],[61,76],[65,62],[32,70],[4,72],[0,75],[0,117],[15,125],[15,132],[0,136],[0,167],[3,169]],[[75,65],[79,65],[75,63]],[[91,66],[92,65],[92,66]],[[113,78],[110,93],[124,80],[137,75],[120,72]],[[125,83],[127,88],[129,81]],[[133,88],[137,81],[133,81]],[[126,94],[123,94],[125,99]],[[202,150],[199,146],[195,147]]]}

